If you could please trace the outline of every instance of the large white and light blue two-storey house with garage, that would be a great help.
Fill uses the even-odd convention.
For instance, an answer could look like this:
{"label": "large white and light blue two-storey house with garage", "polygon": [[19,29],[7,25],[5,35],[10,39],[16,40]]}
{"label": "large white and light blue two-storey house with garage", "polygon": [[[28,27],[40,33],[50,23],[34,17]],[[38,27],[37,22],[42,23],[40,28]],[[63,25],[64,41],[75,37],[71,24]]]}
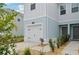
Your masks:
{"label": "large white and light blue two-storey house with garage", "polygon": [[25,41],[48,41],[69,34],[79,40],[78,3],[27,3],[24,11]]}

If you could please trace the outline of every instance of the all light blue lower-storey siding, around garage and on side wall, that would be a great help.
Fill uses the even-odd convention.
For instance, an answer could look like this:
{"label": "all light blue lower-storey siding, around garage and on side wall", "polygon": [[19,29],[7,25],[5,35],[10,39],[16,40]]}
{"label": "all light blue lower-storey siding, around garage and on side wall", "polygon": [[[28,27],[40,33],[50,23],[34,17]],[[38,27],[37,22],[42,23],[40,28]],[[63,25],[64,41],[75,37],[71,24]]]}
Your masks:
{"label": "all light blue lower-storey siding, around garage and on side wall", "polygon": [[[32,22],[37,23],[42,23],[43,24],[43,38],[45,41],[48,41],[48,39],[55,39],[59,35],[59,27],[58,27],[58,22],[48,18],[48,17],[41,17],[41,18],[36,18],[36,19],[31,19],[25,21],[25,30],[27,29],[26,26],[28,24],[32,24]],[[26,31],[25,32],[25,37],[26,37]]]}

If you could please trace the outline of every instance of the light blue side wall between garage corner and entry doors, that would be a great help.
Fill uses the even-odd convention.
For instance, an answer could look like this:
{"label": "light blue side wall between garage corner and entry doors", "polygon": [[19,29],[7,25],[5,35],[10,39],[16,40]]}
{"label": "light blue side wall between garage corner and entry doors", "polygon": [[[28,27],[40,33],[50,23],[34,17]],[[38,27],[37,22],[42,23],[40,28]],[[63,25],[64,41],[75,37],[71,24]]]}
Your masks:
{"label": "light blue side wall between garage corner and entry doors", "polygon": [[59,36],[59,27],[58,27],[58,22],[55,20],[52,20],[51,18],[47,17],[47,34],[48,34],[48,39],[56,39]]}

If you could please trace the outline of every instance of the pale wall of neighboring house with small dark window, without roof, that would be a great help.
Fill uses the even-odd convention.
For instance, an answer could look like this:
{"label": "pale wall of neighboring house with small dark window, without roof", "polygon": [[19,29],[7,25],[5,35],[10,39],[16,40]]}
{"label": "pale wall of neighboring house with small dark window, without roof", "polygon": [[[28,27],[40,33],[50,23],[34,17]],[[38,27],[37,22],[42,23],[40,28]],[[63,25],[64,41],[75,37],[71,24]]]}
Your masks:
{"label": "pale wall of neighboring house with small dark window, without roof", "polygon": [[15,28],[12,30],[15,36],[24,36],[23,14],[19,13],[14,20]]}

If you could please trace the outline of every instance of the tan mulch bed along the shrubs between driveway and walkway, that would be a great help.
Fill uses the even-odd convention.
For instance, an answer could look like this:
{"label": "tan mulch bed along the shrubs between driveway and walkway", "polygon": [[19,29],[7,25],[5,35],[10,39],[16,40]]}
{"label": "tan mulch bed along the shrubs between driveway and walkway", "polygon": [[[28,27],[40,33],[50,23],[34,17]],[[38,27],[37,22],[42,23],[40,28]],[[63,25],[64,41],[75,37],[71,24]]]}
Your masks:
{"label": "tan mulch bed along the shrubs between driveway and walkway", "polygon": [[[65,43],[64,45],[62,45],[60,48],[55,48],[54,52],[49,51],[49,52],[44,52],[44,55],[63,55],[62,51],[63,49],[68,45],[69,42]],[[45,44],[44,46],[46,46],[47,44]],[[38,45],[41,46],[41,45]],[[19,55],[23,55],[23,50],[19,51]],[[40,51],[37,50],[33,50],[31,49],[31,55],[40,55]]]}

